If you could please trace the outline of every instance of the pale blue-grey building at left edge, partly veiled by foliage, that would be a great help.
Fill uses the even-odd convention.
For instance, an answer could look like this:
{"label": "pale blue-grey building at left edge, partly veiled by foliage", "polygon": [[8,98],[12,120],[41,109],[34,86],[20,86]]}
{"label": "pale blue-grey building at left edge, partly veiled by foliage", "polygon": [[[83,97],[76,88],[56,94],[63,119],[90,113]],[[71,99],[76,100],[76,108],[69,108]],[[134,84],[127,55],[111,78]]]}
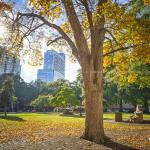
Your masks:
{"label": "pale blue-grey building at left edge, partly veiled by foliage", "polygon": [[20,75],[20,60],[13,56],[0,54],[0,75],[9,73],[14,75]]}

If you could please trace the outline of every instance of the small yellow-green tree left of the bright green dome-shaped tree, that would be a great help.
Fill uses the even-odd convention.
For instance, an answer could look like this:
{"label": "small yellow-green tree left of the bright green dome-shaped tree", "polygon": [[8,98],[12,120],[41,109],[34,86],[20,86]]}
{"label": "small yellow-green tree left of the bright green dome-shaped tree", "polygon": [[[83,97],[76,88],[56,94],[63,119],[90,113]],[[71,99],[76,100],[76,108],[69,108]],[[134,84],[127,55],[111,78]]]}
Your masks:
{"label": "small yellow-green tree left of the bright green dome-shaped tree", "polygon": [[40,95],[34,101],[31,102],[31,106],[38,110],[43,110],[51,106],[52,95]]}

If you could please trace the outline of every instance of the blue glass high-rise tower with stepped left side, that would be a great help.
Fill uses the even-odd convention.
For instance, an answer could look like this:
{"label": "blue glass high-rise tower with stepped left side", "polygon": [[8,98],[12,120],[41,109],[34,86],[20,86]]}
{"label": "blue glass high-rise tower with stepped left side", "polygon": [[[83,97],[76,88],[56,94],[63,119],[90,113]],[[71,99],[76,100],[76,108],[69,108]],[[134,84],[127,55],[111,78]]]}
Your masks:
{"label": "blue glass high-rise tower with stepped left side", "polygon": [[44,53],[43,69],[39,69],[37,79],[53,82],[65,78],[65,54],[48,50]]}

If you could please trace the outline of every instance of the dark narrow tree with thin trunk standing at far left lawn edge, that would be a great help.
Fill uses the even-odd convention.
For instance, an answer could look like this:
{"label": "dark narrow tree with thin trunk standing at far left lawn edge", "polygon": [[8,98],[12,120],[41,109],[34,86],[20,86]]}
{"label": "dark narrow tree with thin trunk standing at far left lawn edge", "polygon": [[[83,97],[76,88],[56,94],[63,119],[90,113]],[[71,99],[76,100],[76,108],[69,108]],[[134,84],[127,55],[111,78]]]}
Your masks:
{"label": "dark narrow tree with thin trunk standing at far left lawn edge", "polygon": [[2,106],[4,107],[5,117],[7,116],[8,104],[13,103],[14,92],[13,78],[10,76],[6,76],[0,91],[0,100]]}

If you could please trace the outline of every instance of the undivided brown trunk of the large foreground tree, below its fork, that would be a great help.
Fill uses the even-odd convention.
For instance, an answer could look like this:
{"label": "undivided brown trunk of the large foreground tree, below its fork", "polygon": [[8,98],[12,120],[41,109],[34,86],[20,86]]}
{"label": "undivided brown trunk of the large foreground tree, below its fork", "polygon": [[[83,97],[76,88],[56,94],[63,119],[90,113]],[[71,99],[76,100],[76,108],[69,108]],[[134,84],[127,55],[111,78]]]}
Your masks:
{"label": "undivided brown trunk of the large foreground tree, below its fork", "polygon": [[[87,66],[88,67],[88,66]],[[94,67],[82,69],[85,84],[86,119],[84,138],[96,143],[104,142],[103,128],[103,77]],[[85,68],[85,67],[84,67]]]}

